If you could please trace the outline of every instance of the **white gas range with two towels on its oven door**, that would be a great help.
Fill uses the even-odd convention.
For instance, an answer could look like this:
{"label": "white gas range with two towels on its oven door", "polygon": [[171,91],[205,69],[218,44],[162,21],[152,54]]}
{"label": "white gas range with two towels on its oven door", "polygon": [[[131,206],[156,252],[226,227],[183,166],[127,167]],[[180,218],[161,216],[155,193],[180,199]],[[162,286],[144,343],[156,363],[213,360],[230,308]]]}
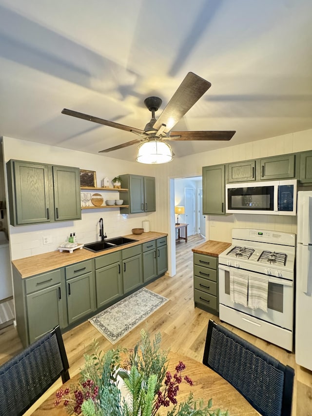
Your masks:
{"label": "white gas range with two towels on its oven door", "polygon": [[234,228],[219,255],[220,319],[292,351],[294,258],[295,234]]}

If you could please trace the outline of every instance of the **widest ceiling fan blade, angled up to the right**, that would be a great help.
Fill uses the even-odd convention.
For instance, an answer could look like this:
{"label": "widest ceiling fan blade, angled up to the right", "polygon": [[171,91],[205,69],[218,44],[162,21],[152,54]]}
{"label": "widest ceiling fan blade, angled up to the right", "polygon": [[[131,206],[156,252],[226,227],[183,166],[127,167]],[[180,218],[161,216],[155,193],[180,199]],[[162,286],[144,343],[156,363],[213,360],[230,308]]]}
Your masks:
{"label": "widest ceiling fan blade, angled up to the right", "polygon": [[158,130],[162,125],[165,125],[164,131],[168,133],[209,87],[211,87],[209,81],[189,72],[153,127]]}

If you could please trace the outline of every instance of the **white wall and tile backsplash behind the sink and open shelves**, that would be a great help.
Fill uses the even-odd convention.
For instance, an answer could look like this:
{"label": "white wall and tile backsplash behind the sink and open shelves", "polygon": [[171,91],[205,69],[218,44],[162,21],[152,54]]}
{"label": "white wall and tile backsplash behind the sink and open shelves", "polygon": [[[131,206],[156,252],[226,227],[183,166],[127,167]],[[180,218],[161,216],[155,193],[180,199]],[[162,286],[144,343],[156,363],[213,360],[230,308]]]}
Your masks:
{"label": "white wall and tile backsplash behind the sink and open shelves", "polygon": [[[7,137],[3,138],[3,157],[5,162],[10,159],[18,159],[94,170],[97,173],[98,186],[100,186],[101,179],[106,176],[110,179],[127,173],[155,176],[154,167],[150,165]],[[103,194],[103,197],[117,199],[118,193],[109,191]],[[122,198],[121,193],[120,198]],[[157,200],[156,209],[159,210]],[[97,226],[100,217],[104,220],[104,231],[108,238],[131,234],[131,229],[140,228],[142,220],[145,219],[150,220],[151,230],[164,231],[167,229],[167,227],[161,228],[161,225],[157,224],[155,213],[121,215],[118,208],[83,210],[82,219],[77,221],[19,227],[9,225],[11,258],[23,258],[54,251],[74,231],[77,234],[78,242],[95,241],[98,238]],[[51,236],[53,243],[43,245],[43,237],[45,236]]]}

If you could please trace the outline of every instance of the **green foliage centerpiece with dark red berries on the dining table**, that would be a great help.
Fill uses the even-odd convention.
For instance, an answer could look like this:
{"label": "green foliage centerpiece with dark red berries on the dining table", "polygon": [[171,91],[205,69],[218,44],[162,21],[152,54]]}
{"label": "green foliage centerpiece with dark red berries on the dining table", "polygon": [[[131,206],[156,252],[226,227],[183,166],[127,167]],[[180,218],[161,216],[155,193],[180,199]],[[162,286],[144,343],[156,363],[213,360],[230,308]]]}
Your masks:
{"label": "green foliage centerpiece with dark red berries on the dining table", "polygon": [[179,384],[184,380],[183,362],[176,365],[172,376],[168,371],[168,351],[160,349],[161,335],[153,343],[149,333],[141,330],[140,342],[134,349],[118,348],[103,353],[93,342],[92,352],[85,354],[78,386],[60,389],[55,405],[63,402],[70,415],[83,416],[157,416],[161,406],[169,407],[167,416],[227,416],[220,409],[212,411],[212,400],[205,405],[190,393],[177,404]]}

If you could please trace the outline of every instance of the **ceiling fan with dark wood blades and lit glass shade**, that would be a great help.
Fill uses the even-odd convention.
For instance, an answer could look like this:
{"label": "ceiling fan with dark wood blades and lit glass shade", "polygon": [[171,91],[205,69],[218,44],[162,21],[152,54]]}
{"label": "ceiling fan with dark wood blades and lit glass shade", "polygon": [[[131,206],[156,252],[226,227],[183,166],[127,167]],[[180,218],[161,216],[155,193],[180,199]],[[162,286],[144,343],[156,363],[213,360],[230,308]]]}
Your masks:
{"label": "ceiling fan with dark wood blades and lit glass shade", "polygon": [[[167,106],[160,114],[158,119],[155,118],[155,112],[160,107],[162,100],[158,97],[148,97],[144,104],[152,112],[152,119],[146,124],[144,130],[135,127],[129,127],[124,124],[115,123],[114,121],[100,119],[87,114],[78,113],[77,111],[64,108],[62,114],[93,121],[105,126],[125,130],[140,136],[126,143],[101,150],[99,153],[111,152],[122,149],[133,144],[141,143],[138,149],[137,161],[142,163],[165,163],[172,160],[172,151],[169,144],[164,140],[230,140],[235,131],[172,131],[171,129],[181,119],[187,111],[200,99],[200,97],[211,87],[211,83],[189,72],[183,79],[175,94],[168,102]],[[148,148],[148,149],[147,149]],[[141,151],[141,155],[140,155]],[[163,153],[166,156],[163,157]],[[153,156],[155,155],[156,156]],[[152,155],[152,156],[151,156]],[[158,156],[159,157],[158,157]],[[148,161],[143,161],[148,160]],[[160,161],[161,160],[161,161]]]}

